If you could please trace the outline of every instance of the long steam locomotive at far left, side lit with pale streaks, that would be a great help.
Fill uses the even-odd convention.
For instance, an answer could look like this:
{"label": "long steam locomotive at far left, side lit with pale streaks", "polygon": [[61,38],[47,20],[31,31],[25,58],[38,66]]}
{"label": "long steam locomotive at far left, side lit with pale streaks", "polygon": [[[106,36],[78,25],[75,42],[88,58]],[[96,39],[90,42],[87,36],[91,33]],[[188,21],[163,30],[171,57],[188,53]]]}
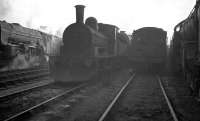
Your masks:
{"label": "long steam locomotive at far left, side lit with pale streaks", "polygon": [[6,21],[0,21],[0,39],[0,71],[48,65],[62,45],[57,36]]}

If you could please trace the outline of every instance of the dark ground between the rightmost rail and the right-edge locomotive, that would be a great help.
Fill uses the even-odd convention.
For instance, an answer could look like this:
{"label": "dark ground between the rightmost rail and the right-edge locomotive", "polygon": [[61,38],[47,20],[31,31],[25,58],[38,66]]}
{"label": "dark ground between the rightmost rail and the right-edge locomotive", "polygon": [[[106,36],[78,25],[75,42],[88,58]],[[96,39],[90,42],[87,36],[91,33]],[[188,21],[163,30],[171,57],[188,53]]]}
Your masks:
{"label": "dark ground between the rightmost rail and the right-edge locomotive", "polygon": [[163,77],[168,95],[182,121],[200,121],[200,102],[191,95],[183,78]]}

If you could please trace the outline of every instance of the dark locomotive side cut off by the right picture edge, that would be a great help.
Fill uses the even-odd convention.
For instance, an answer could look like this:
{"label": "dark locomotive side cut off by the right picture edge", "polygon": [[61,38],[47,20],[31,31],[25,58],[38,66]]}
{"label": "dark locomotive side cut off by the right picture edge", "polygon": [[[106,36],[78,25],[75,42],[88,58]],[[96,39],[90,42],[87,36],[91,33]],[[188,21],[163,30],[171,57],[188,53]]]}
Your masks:
{"label": "dark locomotive side cut off by the right picture edge", "polygon": [[174,28],[170,45],[171,71],[183,74],[194,96],[200,88],[200,1]]}

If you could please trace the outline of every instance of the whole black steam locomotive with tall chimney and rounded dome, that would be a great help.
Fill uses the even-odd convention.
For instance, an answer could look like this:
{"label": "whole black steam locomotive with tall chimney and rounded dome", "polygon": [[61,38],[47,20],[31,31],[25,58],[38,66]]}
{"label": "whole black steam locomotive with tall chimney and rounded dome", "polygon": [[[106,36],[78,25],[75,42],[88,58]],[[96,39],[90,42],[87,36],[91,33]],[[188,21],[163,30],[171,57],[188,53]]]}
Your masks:
{"label": "whole black steam locomotive with tall chimney and rounded dome", "polygon": [[119,28],[98,23],[89,17],[84,24],[84,6],[76,7],[76,23],[63,33],[59,61],[52,74],[60,81],[85,81],[99,69],[109,69],[120,59],[130,45],[130,39]]}

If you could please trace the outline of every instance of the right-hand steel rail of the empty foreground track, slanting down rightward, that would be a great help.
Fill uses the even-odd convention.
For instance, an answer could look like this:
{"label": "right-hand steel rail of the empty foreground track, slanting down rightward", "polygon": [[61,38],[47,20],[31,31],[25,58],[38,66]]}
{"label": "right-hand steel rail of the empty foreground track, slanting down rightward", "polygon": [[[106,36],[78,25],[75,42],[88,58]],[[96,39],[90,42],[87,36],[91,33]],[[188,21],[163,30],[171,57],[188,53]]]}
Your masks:
{"label": "right-hand steel rail of the empty foreground track, slanting down rightward", "polygon": [[161,88],[161,90],[162,90],[162,93],[163,93],[163,95],[164,95],[164,97],[165,97],[165,100],[166,100],[166,102],[167,102],[168,108],[169,108],[169,110],[170,110],[170,113],[171,113],[171,115],[172,115],[174,121],[178,121],[178,118],[177,118],[177,116],[176,116],[175,110],[174,110],[174,108],[173,108],[173,106],[172,106],[172,104],[171,104],[171,102],[170,102],[170,100],[169,100],[169,98],[168,98],[168,96],[167,96],[167,94],[166,94],[166,91],[165,91],[165,88],[164,88],[164,86],[163,86],[163,84],[162,84],[162,81],[161,81],[161,79],[160,79],[159,76],[157,76],[157,78],[158,78],[158,82],[159,82],[160,88]]}

